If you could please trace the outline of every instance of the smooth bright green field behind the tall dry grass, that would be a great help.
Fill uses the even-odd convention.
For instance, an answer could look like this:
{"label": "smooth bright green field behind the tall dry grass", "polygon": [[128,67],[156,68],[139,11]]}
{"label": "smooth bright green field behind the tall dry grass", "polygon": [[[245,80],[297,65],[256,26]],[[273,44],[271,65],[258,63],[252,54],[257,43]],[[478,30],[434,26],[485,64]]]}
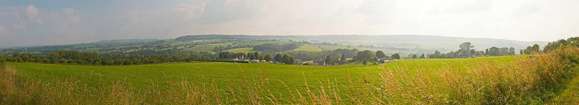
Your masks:
{"label": "smooth bright green field behind the tall dry grass", "polygon": [[[512,61],[512,56],[488,57],[490,61],[506,63]],[[485,59],[485,58],[479,58]],[[394,62],[382,63],[384,67],[401,67],[400,63],[406,63],[409,67],[419,67],[423,65],[434,69],[439,69],[446,64],[454,66],[468,66],[469,62],[474,62],[475,58],[457,59],[402,59]],[[259,75],[269,79],[269,86],[272,93],[288,96],[287,89],[277,80],[285,82],[289,88],[301,89],[305,91],[304,78],[310,87],[320,85],[317,81],[336,80],[338,84],[347,84],[348,69],[353,78],[363,77],[365,73],[379,73],[380,65],[364,66],[360,62],[338,66],[307,66],[307,65],[280,65],[273,63],[239,63],[244,73],[237,67],[236,63],[226,62],[204,62],[204,63],[171,63],[156,65],[135,65],[135,66],[77,66],[77,65],[54,65],[41,63],[8,63],[10,67],[19,70],[24,76],[38,80],[49,80],[52,78],[78,78],[89,87],[96,87],[100,83],[111,83],[113,81],[130,81],[135,88],[142,88],[142,85],[154,81],[157,87],[164,88],[163,81],[168,78],[186,79],[188,81],[199,81],[211,83],[214,81],[219,89],[228,89],[231,84],[239,83],[243,75],[248,76],[248,80]],[[429,66],[430,65],[430,66]],[[412,72],[409,72],[412,73]]]}

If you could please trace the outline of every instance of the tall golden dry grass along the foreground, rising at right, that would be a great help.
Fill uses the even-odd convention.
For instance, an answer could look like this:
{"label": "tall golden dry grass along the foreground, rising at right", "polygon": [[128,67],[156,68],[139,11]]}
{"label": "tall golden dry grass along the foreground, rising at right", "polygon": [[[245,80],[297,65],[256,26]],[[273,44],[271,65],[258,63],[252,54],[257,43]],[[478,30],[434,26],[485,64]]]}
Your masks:
{"label": "tall golden dry grass along the foreground, rising at right", "polygon": [[[444,63],[400,63],[380,67],[379,73],[350,77],[348,83],[328,78],[307,81],[305,89],[269,80],[263,72],[241,76],[229,85],[204,84],[167,78],[168,88],[154,81],[134,88],[128,81],[102,82],[87,87],[76,78],[38,81],[6,67],[0,70],[2,104],[544,104],[562,85],[576,77],[579,48],[564,47],[549,53],[519,56],[508,63],[479,57],[470,66]],[[409,67],[408,65],[416,65]],[[244,72],[241,67],[240,72]],[[256,79],[248,79],[256,78]],[[270,83],[284,84],[287,94],[272,93]],[[311,86],[319,83],[321,85]],[[222,88],[224,87],[224,88]],[[316,88],[314,88],[316,87]],[[300,91],[302,90],[302,91]],[[307,90],[307,91],[303,91]],[[282,98],[285,97],[285,98]]]}

